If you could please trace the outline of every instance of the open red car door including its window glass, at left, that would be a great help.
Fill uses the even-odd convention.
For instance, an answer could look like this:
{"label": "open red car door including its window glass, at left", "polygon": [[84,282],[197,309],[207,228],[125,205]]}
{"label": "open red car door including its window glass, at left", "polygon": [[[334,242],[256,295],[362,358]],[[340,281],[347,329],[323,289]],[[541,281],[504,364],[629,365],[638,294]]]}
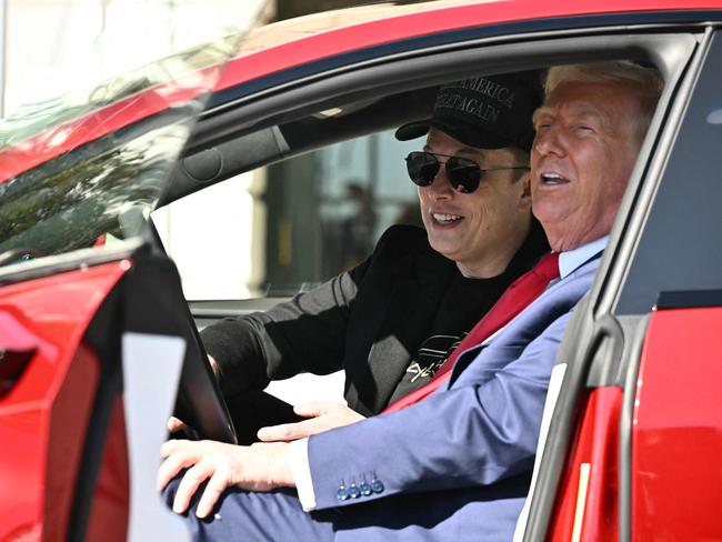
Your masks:
{"label": "open red car door including its window glass, at left", "polygon": [[[181,387],[185,418],[233,440],[180,279],[146,220],[228,52],[136,71],[102,104],[6,120],[18,142],[0,150],[0,540],[142,529],[132,501],[154,490],[134,473],[160,444],[142,430],[160,423],[162,440],[181,377],[194,382]],[[33,114],[42,130],[23,136]]]}

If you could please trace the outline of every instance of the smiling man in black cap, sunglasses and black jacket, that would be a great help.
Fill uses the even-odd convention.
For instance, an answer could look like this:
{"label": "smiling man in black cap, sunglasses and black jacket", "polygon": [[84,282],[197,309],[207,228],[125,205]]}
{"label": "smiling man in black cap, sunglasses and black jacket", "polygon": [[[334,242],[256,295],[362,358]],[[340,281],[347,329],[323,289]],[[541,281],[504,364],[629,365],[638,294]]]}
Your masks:
{"label": "smiling man in black cap, sunglasses and black jacket", "polygon": [[548,250],[529,192],[531,114],[540,101],[538,72],[442,86],[432,116],[397,131],[400,140],[427,137],[423,150],[405,159],[425,231],[392,227],[350,272],[264,313],[202,331],[244,441],[263,425],[294,419],[290,408],[249,393],[269,379],[343,369],[348,408],[300,405],[297,413],[309,423],[264,430],[263,439],[305,436],[378,414],[424,385]]}

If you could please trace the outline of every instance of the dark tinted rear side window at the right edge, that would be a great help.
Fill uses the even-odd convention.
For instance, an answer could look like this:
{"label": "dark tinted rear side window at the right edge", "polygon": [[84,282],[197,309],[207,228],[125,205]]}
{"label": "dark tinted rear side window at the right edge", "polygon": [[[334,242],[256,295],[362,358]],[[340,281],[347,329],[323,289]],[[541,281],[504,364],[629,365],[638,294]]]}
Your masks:
{"label": "dark tinted rear side window at the right edge", "polygon": [[618,301],[649,312],[661,292],[722,289],[722,40],[706,56]]}

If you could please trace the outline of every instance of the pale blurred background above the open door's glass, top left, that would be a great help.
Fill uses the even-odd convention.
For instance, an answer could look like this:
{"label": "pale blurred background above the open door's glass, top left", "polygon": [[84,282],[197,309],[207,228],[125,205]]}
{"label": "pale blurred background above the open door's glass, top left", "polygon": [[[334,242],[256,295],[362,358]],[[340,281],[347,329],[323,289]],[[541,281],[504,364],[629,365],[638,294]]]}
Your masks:
{"label": "pale blurred background above the open door's glass, top left", "polygon": [[0,0],[0,117],[241,28],[350,0]]}

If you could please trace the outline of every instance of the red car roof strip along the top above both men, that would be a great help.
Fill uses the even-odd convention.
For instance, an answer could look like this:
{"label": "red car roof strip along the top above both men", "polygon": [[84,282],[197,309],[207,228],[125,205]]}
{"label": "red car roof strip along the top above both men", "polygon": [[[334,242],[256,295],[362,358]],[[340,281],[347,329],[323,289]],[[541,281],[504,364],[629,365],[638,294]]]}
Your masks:
{"label": "red car roof strip along the top above both men", "polygon": [[437,0],[314,13],[260,27],[243,39],[215,90],[358,49],[478,26],[595,14],[722,9],[721,0]]}

